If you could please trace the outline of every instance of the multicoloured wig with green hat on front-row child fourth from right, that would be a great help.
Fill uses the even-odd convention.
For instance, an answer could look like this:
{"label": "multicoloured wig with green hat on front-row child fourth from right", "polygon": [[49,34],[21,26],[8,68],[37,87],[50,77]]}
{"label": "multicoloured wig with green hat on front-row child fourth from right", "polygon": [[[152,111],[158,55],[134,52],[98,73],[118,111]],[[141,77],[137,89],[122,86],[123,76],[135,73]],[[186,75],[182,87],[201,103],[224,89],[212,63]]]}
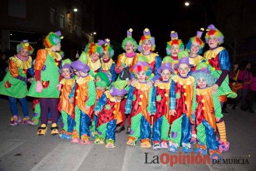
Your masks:
{"label": "multicoloured wig with green hat on front-row child fourth from right", "polygon": [[144,71],[146,76],[152,74],[152,68],[147,63],[148,59],[145,56],[138,56],[138,62],[133,66],[133,73],[137,77],[137,73]]}

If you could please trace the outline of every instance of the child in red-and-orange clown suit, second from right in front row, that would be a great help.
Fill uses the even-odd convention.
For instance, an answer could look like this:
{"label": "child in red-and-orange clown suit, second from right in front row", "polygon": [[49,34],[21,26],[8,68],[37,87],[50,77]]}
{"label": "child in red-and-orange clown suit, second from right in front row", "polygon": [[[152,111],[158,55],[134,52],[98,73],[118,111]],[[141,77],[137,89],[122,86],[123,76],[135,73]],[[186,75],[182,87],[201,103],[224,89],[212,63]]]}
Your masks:
{"label": "child in red-and-orange clown suit, second from right in front row", "polygon": [[196,84],[195,79],[188,75],[190,65],[188,52],[178,53],[179,61],[175,64],[179,74],[172,79],[175,82],[176,111],[170,118],[170,141],[168,151],[177,153],[181,145],[182,152],[190,153],[191,140],[191,114],[196,109]]}

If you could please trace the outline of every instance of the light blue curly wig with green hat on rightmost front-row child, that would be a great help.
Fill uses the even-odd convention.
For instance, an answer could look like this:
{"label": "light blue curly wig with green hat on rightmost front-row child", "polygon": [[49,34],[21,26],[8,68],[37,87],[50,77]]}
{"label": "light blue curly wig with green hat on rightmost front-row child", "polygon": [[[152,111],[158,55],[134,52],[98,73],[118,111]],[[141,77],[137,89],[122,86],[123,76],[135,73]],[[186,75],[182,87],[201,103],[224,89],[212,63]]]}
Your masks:
{"label": "light blue curly wig with green hat on rightmost front-row child", "polygon": [[205,62],[198,63],[197,69],[192,73],[192,76],[195,78],[196,83],[199,78],[205,79],[208,87],[213,86],[216,82],[216,78],[212,76]]}

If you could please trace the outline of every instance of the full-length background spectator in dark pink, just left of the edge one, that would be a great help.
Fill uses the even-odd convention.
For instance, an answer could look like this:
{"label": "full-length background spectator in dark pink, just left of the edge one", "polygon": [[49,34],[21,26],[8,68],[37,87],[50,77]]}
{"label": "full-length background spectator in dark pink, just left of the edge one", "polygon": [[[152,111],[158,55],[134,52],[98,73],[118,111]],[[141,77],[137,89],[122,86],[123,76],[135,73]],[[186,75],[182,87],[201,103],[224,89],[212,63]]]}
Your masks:
{"label": "full-length background spectator in dark pink, just left of the edge one", "polygon": [[242,61],[239,65],[239,74],[238,74],[238,83],[242,83],[242,89],[238,90],[237,98],[236,98],[236,103],[232,106],[232,109],[235,110],[240,98],[242,99],[242,104],[241,104],[241,110],[246,111],[247,106],[246,106],[246,94],[247,90],[249,88],[249,69],[251,68],[251,64],[248,61]]}

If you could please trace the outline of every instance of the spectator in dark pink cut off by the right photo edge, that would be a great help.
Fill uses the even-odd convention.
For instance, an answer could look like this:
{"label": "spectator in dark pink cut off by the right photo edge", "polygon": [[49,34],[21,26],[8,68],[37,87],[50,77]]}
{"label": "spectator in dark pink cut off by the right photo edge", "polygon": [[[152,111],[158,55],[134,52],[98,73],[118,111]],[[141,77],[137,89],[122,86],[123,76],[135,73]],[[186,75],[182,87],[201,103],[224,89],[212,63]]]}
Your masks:
{"label": "spectator in dark pink cut off by the right photo edge", "polygon": [[252,71],[249,74],[250,77],[250,102],[249,102],[249,112],[254,113],[252,110],[253,101],[255,99],[256,94],[256,64],[254,63],[252,66]]}

